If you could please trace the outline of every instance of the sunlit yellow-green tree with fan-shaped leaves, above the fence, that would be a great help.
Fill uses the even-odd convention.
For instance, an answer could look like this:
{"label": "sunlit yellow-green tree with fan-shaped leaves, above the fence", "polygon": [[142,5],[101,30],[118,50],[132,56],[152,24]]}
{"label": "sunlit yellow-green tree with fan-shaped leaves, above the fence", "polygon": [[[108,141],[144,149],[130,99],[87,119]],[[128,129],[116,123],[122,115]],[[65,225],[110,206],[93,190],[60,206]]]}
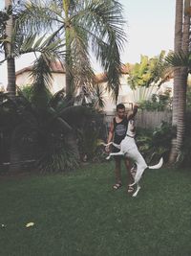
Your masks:
{"label": "sunlit yellow-green tree with fan-shaped leaves, above the fence", "polygon": [[161,51],[159,57],[140,57],[129,72],[128,84],[133,89],[136,102],[151,99],[152,94],[159,86],[169,79],[171,70],[164,61],[165,52]]}

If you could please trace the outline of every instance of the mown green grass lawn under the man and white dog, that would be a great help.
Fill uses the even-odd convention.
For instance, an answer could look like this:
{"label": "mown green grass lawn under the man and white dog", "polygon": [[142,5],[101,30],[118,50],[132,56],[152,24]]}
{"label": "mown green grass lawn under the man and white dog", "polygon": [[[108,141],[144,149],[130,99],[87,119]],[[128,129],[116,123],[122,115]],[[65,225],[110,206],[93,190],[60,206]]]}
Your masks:
{"label": "mown green grass lawn under the man and white dog", "polygon": [[190,256],[191,172],[148,170],[131,198],[113,169],[0,178],[0,255]]}

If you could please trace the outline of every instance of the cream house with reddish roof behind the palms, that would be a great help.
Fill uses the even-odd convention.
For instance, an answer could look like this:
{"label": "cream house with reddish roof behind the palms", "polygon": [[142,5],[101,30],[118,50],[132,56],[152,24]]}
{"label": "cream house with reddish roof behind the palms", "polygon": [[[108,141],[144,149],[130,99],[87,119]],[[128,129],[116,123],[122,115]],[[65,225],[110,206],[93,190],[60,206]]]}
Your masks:
{"label": "cream house with reddish roof behind the palms", "polygon": [[[144,97],[148,99],[149,97],[152,96],[153,93],[164,92],[166,89],[170,89],[172,91],[173,84],[172,84],[171,78],[169,79],[169,81],[163,83],[162,86],[159,88],[159,90],[157,87],[148,88],[146,89],[146,92],[145,92],[145,87],[138,88],[137,90],[132,90],[127,82],[128,74],[131,68],[132,68],[132,65],[123,65],[121,67],[120,89],[118,93],[117,104],[123,103],[127,108],[132,108],[132,105],[134,103],[137,103],[140,99],[140,96],[143,94],[144,94]],[[52,93],[55,93],[65,87],[66,72],[63,65],[61,65],[59,62],[53,62],[52,69],[53,69],[53,73],[52,73],[53,82],[52,82],[52,87],[50,89]],[[17,71],[16,84],[19,87],[32,84],[31,72],[32,72],[32,66],[29,66]],[[106,90],[107,88],[106,75],[104,73],[97,74],[96,82],[100,84],[101,88],[103,89],[103,95],[105,100],[104,111],[107,112],[108,114],[113,113],[116,109],[116,103],[112,100],[111,94],[108,92],[108,90]]]}

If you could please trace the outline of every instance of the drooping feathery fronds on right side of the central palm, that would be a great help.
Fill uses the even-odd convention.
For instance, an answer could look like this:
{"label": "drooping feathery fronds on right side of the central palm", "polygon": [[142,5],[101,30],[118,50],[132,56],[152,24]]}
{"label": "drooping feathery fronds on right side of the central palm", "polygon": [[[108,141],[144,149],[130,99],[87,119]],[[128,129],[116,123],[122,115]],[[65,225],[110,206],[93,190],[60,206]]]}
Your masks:
{"label": "drooping feathery fronds on right side of the central palm", "polygon": [[106,71],[109,88],[117,100],[121,69],[119,51],[125,41],[121,5],[117,1],[88,1],[75,19],[87,30],[92,50]]}

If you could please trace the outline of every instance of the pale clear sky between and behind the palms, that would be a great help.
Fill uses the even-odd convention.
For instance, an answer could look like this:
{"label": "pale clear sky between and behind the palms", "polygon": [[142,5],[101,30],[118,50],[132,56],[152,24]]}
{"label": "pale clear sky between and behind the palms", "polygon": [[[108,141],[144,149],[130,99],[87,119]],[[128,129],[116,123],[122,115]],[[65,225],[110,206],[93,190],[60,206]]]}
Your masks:
{"label": "pale clear sky between and behind the palms", "polygon": [[[123,63],[139,62],[140,55],[158,56],[161,50],[174,49],[176,0],[120,0],[127,20],[127,42],[121,53]],[[0,9],[4,0],[0,0]],[[16,59],[16,70],[32,64],[32,56]],[[97,72],[100,68],[94,63]],[[7,84],[7,66],[0,66],[0,83]]]}

